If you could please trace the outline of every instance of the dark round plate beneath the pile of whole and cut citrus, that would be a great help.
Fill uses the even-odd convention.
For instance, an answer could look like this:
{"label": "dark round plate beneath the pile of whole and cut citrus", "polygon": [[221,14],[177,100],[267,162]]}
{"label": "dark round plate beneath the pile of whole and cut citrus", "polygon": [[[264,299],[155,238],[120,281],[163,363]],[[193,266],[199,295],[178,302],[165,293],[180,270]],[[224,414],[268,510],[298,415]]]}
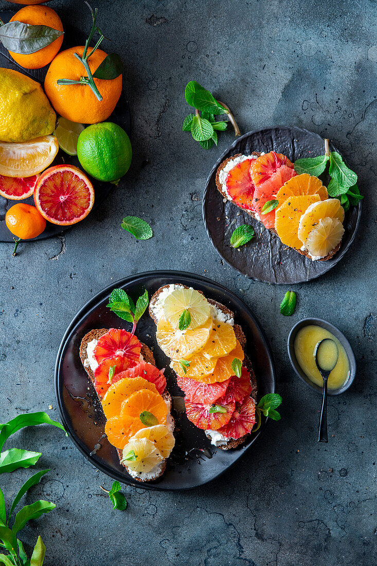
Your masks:
{"label": "dark round plate beneath the pile of whole and cut citrus", "polygon": [[[15,12],[11,11],[3,11],[0,12],[0,18],[4,22],[8,22],[12,15]],[[80,31],[78,28],[74,28],[71,25],[66,24],[63,22],[63,26],[65,28],[65,35],[61,49],[68,49],[74,45],[82,45],[85,43],[85,37],[83,36],[83,32]],[[104,48],[106,49],[106,48]],[[29,75],[32,79],[37,80],[39,83],[43,84],[44,79],[46,76],[46,72],[48,70],[48,66],[43,67],[41,69],[31,70],[31,69],[24,69],[20,67],[13,59],[11,58],[10,54],[8,53],[7,49],[0,43],[0,67],[6,67],[10,69],[14,69],[15,71],[22,72],[24,75]],[[86,87],[84,87],[86,88]],[[126,130],[127,134],[130,135],[131,132],[131,115],[130,115],[130,107],[128,106],[127,96],[125,89],[123,88],[121,97],[119,98],[117,106],[115,106],[114,112],[108,118],[109,122],[115,122],[119,126],[122,126],[124,130]],[[76,156],[67,155],[67,153],[61,151],[59,149],[58,155],[55,157],[52,165],[58,165],[61,163],[69,163],[71,165],[76,165],[80,169],[82,169],[80,162]],[[108,196],[109,192],[112,190],[113,185],[111,183],[102,183],[101,181],[97,181],[96,179],[91,179],[93,186],[95,187],[95,204],[93,209],[96,209],[98,206],[102,204],[105,200],[106,196]],[[7,200],[0,196],[0,242],[13,242],[13,234],[7,229],[5,225],[5,215],[7,210],[14,204],[16,204],[17,200]],[[31,196],[30,198],[21,201],[23,203],[34,204],[34,199]],[[85,222],[83,220],[83,222]],[[61,234],[62,232],[68,230],[71,226],[58,226],[55,224],[51,224],[51,222],[47,222],[47,226],[44,232],[37,238],[33,238],[36,240],[43,240],[45,238],[51,238],[57,234]]]}

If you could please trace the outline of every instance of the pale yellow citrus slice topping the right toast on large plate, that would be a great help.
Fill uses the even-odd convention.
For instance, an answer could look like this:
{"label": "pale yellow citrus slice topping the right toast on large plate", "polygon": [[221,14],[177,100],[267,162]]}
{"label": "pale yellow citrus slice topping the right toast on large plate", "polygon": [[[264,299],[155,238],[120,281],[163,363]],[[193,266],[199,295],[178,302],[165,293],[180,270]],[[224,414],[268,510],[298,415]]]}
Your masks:
{"label": "pale yellow citrus slice topping the right toast on large plate", "polygon": [[188,328],[193,330],[207,322],[211,308],[207,299],[195,289],[175,289],[164,302],[165,319],[173,328],[178,328],[183,311],[190,312],[191,322]]}

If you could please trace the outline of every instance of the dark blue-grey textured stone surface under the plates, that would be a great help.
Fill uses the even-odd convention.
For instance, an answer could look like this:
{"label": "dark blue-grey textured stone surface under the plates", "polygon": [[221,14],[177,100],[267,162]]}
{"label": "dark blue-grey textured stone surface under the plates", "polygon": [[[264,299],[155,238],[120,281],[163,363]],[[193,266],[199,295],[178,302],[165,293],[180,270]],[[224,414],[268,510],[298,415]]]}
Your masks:
{"label": "dark blue-grey textured stone surface under the plates", "polygon": [[[376,509],[376,3],[304,0],[93,0],[98,23],[125,62],[134,158],[101,211],[63,237],[1,244],[1,421],[22,411],[58,418],[53,369],[75,312],[112,280],[149,269],[186,269],[228,286],[261,321],[276,357],[280,423],[218,481],[198,490],[125,488],[126,512],[113,511],[98,472],[61,431],[39,427],[14,437],[41,449],[51,468],[27,497],[55,501],[22,532],[42,535],[45,564],[206,565],[372,564]],[[53,1],[63,22],[88,29],[78,0]],[[11,6],[0,0],[0,8]],[[190,79],[234,110],[242,132],[297,125],[331,138],[366,195],[349,255],[319,280],[293,286],[298,307],[279,314],[286,289],[254,283],[222,264],[202,221],[208,171],[233,141],[220,134],[206,152],[181,131]],[[150,221],[137,242],[123,215]],[[329,399],[329,443],[317,444],[320,397],[293,374],[286,353],[292,325],[314,315],[336,324],[357,357],[353,387]],[[49,405],[53,409],[49,410]],[[8,443],[11,447],[12,441]],[[7,500],[31,470],[1,477]],[[375,556],[375,555],[374,555]]]}

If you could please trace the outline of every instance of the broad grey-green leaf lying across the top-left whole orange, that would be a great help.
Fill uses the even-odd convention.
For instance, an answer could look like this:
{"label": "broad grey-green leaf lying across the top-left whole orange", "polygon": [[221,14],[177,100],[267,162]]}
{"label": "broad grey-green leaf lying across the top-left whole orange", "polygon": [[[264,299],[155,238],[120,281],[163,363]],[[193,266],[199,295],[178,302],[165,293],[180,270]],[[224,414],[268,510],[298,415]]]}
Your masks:
{"label": "broad grey-green leaf lying across the top-left whole orange", "polygon": [[50,45],[63,33],[48,25],[24,24],[15,21],[0,27],[0,41],[9,51],[29,55]]}

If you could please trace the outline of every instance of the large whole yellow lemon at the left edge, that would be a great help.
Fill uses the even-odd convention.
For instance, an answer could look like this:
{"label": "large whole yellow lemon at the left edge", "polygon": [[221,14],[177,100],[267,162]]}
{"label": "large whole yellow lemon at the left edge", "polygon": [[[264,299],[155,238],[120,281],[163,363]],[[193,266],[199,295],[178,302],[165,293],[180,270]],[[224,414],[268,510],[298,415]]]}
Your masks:
{"label": "large whole yellow lemon at the left edge", "polygon": [[52,134],[56,114],[41,85],[0,68],[0,140],[22,142]]}

